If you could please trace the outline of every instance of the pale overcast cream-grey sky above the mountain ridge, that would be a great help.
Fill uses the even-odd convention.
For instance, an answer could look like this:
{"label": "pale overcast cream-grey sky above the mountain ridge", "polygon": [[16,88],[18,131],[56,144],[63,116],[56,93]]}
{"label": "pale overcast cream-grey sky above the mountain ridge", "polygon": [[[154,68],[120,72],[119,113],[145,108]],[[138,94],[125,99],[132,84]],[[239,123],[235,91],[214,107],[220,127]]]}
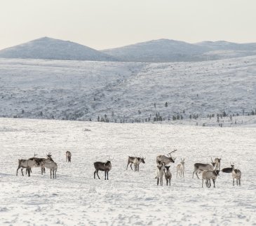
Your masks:
{"label": "pale overcast cream-grey sky above the mountain ridge", "polygon": [[43,36],[97,50],[159,38],[256,42],[256,0],[0,0],[0,49]]}

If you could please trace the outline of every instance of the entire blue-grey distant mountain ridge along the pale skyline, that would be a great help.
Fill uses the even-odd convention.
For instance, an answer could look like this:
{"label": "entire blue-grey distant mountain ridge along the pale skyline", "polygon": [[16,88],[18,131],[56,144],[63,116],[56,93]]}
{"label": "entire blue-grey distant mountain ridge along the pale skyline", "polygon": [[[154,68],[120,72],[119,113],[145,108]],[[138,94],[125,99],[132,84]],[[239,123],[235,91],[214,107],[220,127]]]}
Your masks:
{"label": "entire blue-grey distant mountain ridge along the pale skyline", "polygon": [[197,62],[256,55],[256,43],[159,39],[108,50],[55,38],[38,38],[0,50],[0,58],[90,60],[111,62]]}

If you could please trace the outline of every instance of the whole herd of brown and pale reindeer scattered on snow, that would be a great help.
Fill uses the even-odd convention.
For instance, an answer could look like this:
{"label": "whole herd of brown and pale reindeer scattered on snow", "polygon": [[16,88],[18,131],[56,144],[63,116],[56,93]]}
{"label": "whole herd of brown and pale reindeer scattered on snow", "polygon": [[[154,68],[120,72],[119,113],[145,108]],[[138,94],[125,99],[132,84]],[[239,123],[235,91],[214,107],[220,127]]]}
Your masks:
{"label": "whole herd of brown and pale reindeer scattered on snow", "polygon": [[[170,185],[170,180],[172,178],[172,174],[170,172],[170,164],[175,163],[175,157],[172,157],[172,153],[175,153],[177,150],[173,150],[172,152],[168,153],[168,155],[158,155],[156,157],[156,185],[163,185],[163,176],[166,178],[166,185]],[[66,162],[71,162],[72,154],[67,151],[66,152]],[[145,164],[145,157],[133,157],[128,156],[128,164],[126,166],[126,170],[128,169],[128,166],[130,164],[130,169],[134,171],[140,171],[140,163]],[[113,159],[112,159],[113,160]],[[100,179],[100,176],[98,174],[99,171],[105,171],[105,180],[109,179],[109,171],[112,169],[112,160],[107,160],[107,162],[94,162],[94,178],[97,174],[97,178]],[[210,164],[203,164],[203,163],[195,163],[194,164],[194,171],[192,174],[192,178],[194,178],[194,174],[196,174],[197,178],[198,174],[202,175],[202,188],[203,188],[203,182],[206,181],[206,187],[210,188],[210,180],[213,181],[213,187],[215,188],[215,181],[217,176],[220,174],[220,158],[215,158],[213,161],[213,158],[211,158]],[[231,164],[231,162],[230,162]],[[133,169],[133,167],[134,169]],[[185,159],[181,158],[181,162],[177,164],[176,167],[176,177],[179,175],[181,178],[184,178],[184,169],[185,169]],[[39,158],[36,157],[36,154],[34,153],[34,157],[29,158],[28,160],[18,160],[18,169],[16,176],[18,176],[18,170],[21,169],[22,176],[23,169],[26,169],[26,174],[30,176],[32,173],[32,168],[34,167],[41,167],[41,174],[46,173],[46,168],[50,169],[50,179],[56,178],[56,172],[58,169],[58,164],[53,161],[51,154],[48,153],[46,155],[46,158]],[[239,169],[234,168],[234,163],[231,164],[231,167],[227,167],[222,169],[222,173],[228,173],[232,174],[233,178],[233,185],[235,184],[236,179],[236,185],[241,185],[241,171]]]}

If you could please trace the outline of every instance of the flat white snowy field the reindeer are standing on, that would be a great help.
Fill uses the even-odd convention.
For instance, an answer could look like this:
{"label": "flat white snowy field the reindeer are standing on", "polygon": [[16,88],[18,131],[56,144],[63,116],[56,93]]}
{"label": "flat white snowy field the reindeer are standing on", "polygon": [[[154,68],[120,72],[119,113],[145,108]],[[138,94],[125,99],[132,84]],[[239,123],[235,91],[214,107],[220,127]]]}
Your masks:
{"label": "flat white snowy field the reindeer are standing on", "polygon": [[[256,225],[255,128],[0,118],[0,133],[0,225]],[[156,155],[174,148],[171,186],[156,186]],[[15,175],[18,159],[34,152],[52,153],[56,180],[48,170]],[[146,164],[126,171],[128,155],[137,153]],[[93,162],[109,155],[109,181],[94,180]],[[184,178],[175,176],[180,157]],[[210,157],[221,157],[222,167],[239,162],[241,187],[220,174],[217,188],[201,188],[193,164]]]}

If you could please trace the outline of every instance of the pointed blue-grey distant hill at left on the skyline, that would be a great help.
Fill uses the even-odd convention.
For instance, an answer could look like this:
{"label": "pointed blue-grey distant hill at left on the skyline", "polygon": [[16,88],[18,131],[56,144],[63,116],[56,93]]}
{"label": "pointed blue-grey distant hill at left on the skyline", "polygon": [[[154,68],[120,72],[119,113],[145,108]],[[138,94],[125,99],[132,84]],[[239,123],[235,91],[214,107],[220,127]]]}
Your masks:
{"label": "pointed blue-grey distant hill at left on the skyline", "polygon": [[85,45],[48,37],[0,50],[0,57],[116,61],[114,57]]}

